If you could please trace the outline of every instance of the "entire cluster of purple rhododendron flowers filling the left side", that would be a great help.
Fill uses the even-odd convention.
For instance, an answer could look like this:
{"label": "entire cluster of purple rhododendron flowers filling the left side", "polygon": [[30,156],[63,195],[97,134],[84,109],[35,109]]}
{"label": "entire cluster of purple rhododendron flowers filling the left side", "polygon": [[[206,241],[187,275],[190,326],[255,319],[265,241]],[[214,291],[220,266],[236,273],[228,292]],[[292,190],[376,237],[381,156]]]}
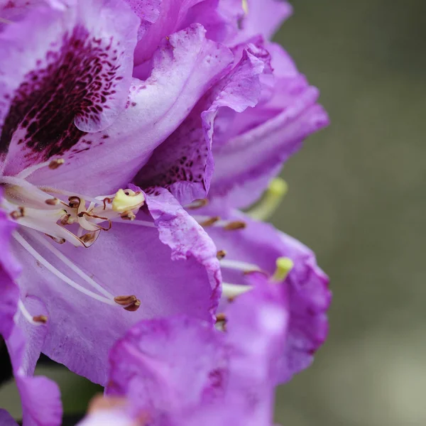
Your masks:
{"label": "entire cluster of purple rhododendron flowers filling the left side", "polygon": [[273,424],[330,302],[312,251],[264,222],[328,124],[270,40],[290,13],[0,0],[0,334],[23,426],[61,424],[41,353],[105,386],[84,426]]}

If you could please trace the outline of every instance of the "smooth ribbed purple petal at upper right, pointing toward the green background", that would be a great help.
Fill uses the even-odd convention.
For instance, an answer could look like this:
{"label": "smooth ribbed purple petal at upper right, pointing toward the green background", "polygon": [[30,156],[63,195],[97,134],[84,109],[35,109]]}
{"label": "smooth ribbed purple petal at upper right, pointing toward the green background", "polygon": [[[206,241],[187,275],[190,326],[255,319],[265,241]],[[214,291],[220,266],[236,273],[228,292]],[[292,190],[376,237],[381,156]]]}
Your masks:
{"label": "smooth ribbed purple petal at upper right, pointing toward the green background", "polygon": [[222,206],[248,207],[258,200],[305,138],[329,123],[317,104],[318,90],[295,70],[282,48],[270,48],[272,66],[278,70],[273,97],[241,114],[218,117],[223,129],[213,144],[215,170],[209,197]]}

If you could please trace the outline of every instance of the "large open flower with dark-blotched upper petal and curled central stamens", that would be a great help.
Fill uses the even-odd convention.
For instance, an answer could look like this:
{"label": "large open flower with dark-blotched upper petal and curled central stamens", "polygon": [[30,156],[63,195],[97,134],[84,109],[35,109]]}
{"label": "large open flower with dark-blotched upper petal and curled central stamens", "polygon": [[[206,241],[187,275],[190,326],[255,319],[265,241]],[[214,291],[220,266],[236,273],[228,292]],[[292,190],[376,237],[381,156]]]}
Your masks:
{"label": "large open flower with dark-blotched upper petal and curled central stamens", "polygon": [[[264,67],[251,47],[234,66],[194,23],[161,38],[148,79],[132,79],[138,31],[123,1],[50,0],[0,32],[0,210],[18,224],[24,331],[32,342],[47,317],[38,349],[97,383],[109,347],[138,320],[211,319],[214,244],[169,192],[127,182],[212,87],[247,89]],[[253,90],[226,105],[241,111]]]}

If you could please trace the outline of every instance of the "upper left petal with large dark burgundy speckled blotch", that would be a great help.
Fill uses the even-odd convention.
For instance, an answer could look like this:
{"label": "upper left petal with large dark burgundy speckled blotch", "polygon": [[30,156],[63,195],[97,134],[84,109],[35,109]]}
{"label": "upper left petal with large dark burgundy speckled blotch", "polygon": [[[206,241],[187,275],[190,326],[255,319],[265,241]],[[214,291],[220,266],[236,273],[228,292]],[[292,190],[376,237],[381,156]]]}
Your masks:
{"label": "upper left petal with large dark burgundy speckled blotch", "polygon": [[124,109],[138,20],[119,0],[40,6],[0,33],[6,172],[63,155]]}

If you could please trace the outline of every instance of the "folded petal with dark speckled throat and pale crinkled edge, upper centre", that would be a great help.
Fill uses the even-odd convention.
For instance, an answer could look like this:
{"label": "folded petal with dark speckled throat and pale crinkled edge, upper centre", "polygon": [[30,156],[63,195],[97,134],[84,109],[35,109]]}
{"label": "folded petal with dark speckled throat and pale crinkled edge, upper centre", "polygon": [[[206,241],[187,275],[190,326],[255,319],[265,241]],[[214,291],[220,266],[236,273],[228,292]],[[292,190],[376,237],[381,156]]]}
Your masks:
{"label": "folded petal with dark speckled throat and pale crinkled edge, upper centre", "polygon": [[182,204],[206,197],[214,168],[214,119],[219,109],[241,112],[256,105],[263,54],[255,45],[246,46],[234,69],[204,94],[187,119],[154,151],[136,177],[138,185],[167,187]]}

